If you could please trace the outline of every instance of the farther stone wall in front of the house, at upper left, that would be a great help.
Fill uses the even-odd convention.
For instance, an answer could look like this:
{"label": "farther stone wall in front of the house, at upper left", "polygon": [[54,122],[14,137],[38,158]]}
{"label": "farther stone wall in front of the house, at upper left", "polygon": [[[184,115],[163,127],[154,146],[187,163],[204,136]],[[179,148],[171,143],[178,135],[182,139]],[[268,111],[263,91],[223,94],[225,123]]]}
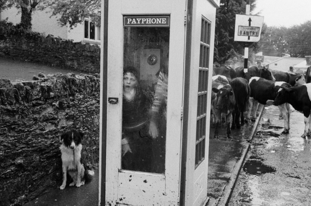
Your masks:
{"label": "farther stone wall in front of the house, at upper left", "polygon": [[[0,25],[1,26],[1,25]],[[0,30],[1,36],[1,30]],[[10,28],[0,38],[0,53],[74,71],[100,73],[100,47],[52,35]]]}

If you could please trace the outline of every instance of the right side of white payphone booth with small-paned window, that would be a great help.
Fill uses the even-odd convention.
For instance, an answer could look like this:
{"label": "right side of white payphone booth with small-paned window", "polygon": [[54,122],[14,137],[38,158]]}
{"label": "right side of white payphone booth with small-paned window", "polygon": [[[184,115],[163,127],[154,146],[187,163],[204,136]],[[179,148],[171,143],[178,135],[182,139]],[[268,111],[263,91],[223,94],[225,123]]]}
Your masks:
{"label": "right side of white payphone booth with small-paned window", "polygon": [[[213,29],[215,7],[209,1],[198,0],[193,5],[192,34],[192,81],[190,88],[191,108],[191,142],[190,150],[194,162],[192,168],[193,188],[188,192],[192,199],[187,205],[201,205],[207,199],[208,146],[211,105],[211,76],[213,62]],[[187,200],[186,200],[187,201]]]}

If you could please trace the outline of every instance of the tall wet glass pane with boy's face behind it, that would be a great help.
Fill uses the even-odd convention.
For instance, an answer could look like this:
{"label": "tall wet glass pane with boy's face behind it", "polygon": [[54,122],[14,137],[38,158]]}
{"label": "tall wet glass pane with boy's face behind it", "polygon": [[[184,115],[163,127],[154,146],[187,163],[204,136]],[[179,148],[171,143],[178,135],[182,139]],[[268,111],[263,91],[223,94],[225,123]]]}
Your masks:
{"label": "tall wet glass pane with boy's face behind it", "polygon": [[163,174],[169,27],[124,26],[123,52],[121,168]]}

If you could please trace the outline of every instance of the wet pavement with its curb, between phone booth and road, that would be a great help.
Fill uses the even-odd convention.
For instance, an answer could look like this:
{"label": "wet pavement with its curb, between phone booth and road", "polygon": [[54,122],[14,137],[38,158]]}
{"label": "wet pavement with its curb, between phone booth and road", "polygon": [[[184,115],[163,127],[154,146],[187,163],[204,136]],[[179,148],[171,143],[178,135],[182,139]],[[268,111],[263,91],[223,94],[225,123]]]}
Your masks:
{"label": "wet pavement with its curb, between phone booth and road", "polygon": [[[225,123],[220,130],[220,138],[214,138],[215,128],[210,127],[206,206],[225,206],[230,201],[232,191],[251,146],[252,138],[261,119],[263,105],[259,105],[257,119],[231,130],[233,139],[227,139]],[[246,117],[246,115],[244,115]]]}

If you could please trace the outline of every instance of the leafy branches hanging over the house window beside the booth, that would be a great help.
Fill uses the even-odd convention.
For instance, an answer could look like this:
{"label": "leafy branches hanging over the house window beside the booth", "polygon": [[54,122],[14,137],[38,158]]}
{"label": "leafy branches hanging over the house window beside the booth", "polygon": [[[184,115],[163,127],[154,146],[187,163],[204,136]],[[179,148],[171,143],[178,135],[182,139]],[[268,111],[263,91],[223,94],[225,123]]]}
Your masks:
{"label": "leafy branches hanging over the house window beside the booth", "polygon": [[50,8],[51,16],[60,15],[58,23],[61,26],[69,25],[72,29],[83,23],[85,18],[100,25],[100,0],[44,0],[39,9]]}

